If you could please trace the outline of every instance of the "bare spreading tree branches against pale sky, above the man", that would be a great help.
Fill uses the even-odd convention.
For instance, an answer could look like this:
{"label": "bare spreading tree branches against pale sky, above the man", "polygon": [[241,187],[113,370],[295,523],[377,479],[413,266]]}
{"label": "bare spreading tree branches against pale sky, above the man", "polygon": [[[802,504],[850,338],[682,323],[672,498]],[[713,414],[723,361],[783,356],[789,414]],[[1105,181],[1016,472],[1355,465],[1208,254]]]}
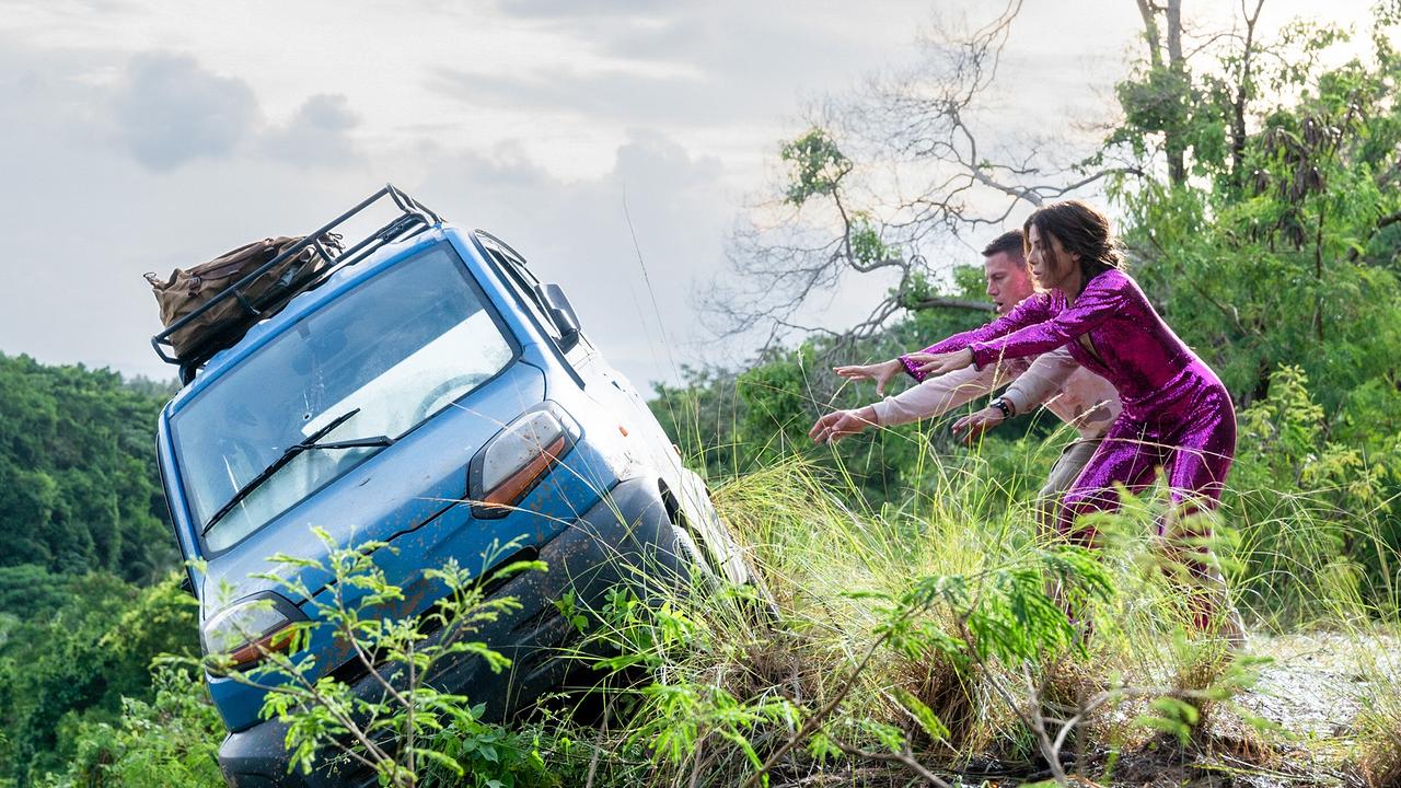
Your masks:
{"label": "bare spreading tree branches against pale sky, above the man", "polygon": [[[713,332],[759,334],[768,349],[793,334],[871,337],[908,308],[982,308],[919,286],[937,285],[948,271],[926,262],[934,245],[967,245],[962,238],[1003,227],[1019,209],[1105,177],[1142,175],[1055,167],[1041,144],[993,146],[989,156],[982,137],[996,139],[998,129],[985,121],[986,105],[1021,4],[1009,0],[962,32],[937,31],[923,42],[922,63],[873,79],[870,98],[827,102],[813,128],[783,147],[783,196],[754,206],[750,224],[731,236],[733,276],[702,299]],[[901,193],[901,182],[913,188]],[[884,297],[841,331],[804,325],[814,320],[801,315],[848,275],[874,280]]]}

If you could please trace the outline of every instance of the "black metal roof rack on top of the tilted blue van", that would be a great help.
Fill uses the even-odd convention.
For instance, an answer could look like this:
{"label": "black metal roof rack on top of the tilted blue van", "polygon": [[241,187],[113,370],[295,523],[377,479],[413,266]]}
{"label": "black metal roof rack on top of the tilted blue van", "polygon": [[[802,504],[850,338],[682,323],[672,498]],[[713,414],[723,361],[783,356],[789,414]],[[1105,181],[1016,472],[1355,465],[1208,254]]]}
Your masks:
{"label": "black metal roof rack on top of the tilted blue van", "polygon": [[[399,215],[391,219],[387,224],[384,224],[374,233],[370,233],[367,237],[357,241],[354,245],[332,257],[332,252],[328,248],[328,237],[336,230],[336,227],[339,227],[350,217],[356,216],[361,210],[370,208],[371,205],[374,205],[375,202],[381,201],[385,196],[388,196],[394,202],[395,208],[399,209]],[[224,289],[210,300],[200,304],[195,311],[167,325],[164,331],[151,337],[151,346],[156,348],[156,355],[158,355],[161,360],[164,360],[165,363],[179,366],[181,383],[189,383],[191,380],[195,379],[195,372],[200,366],[203,366],[205,362],[207,362],[216,352],[221,351],[226,346],[233,345],[233,342],[224,342],[224,344],[217,341],[209,342],[206,345],[206,349],[198,351],[192,353],[189,358],[177,358],[174,353],[175,345],[171,341],[171,335],[184,328],[186,324],[198,320],[202,314],[212,310],[216,304],[227,301],[228,299],[235,299],[240,303],[240,306],[242,306],[242,308],[247,310],[249,317],[258,317],[261,313],[255,304],[249,303],[248,297],[244,294],[244,289],[248,285],[251,285],[255,279],[262,276],[265,272],[272,271],[275,266],[282,264],[282,261],[301,254],[303,250],[311,248],[314,250],[315,254],[321,255],[321,258],[326,262],[326,268],[319,271],[305,283],[297,286],[296,293],[304,293],[307,290],[319,287],[332,273],[340,271],[342,268],[346,268],[347,265],[354,265],[360,262],[361,259],[374,254],[374,251],[378,250],[380,247],[389,244],[392,241],[416,236],[423,230],[433,227],[434,224],[440,224],[441,222],[443,219],[429,208],[423,206],[423,203],[403,193],[401,189],[395,188],[394,184],[385,184],[382,189],[374,192],[373,195],[361,201],[360,205],[342,213],[340,216],[335,217],[325,226],[312,230],[310,234],[307,234],[305,238],[287,247],[277,257],[259,265],[255,271],[251,271],[247,276],[244,276],[238,282],[234,282],[227,289]]]}

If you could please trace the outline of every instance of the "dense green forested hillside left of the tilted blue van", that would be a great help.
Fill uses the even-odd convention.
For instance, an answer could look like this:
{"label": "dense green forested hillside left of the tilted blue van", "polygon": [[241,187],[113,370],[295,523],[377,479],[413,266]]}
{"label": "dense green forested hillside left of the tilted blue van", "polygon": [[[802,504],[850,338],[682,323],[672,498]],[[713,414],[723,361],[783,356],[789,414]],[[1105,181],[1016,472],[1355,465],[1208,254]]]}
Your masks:
{"label": "dense green forested hillside left of the tilted blue van", "polygon": [[0,782],[62,770],[151,658],[198,648],[156,467],[172,390],[0,356]]}

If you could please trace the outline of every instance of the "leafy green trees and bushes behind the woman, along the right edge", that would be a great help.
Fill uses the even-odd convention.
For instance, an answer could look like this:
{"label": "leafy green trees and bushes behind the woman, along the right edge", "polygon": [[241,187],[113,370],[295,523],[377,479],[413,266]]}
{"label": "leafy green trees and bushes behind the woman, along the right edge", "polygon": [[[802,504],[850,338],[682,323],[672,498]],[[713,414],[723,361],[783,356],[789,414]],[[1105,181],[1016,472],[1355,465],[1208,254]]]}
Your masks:
{"label": "leafy green trees and bushes behind the woman, along the right edge", "polygon": [[[1180,73],[1184,177],[1110,193],[1133,275],[1241,405],[1227,513],[1244,522],[1247,583],[1262,578],[1271,607],[1320,582],[1394,606],[1401,8],[1379,4],[1362,41],[1316,22],[1261,41],[1259,8],[1247,35],[1203,50],[1213,64]],[[1352,56],[1324,67],[1341,46]],[[1149,60],[1119,86],[1110,137],[1143,168],[1160,151],[1140,140],[1167,133],[1147,115],[1157,73]]]}

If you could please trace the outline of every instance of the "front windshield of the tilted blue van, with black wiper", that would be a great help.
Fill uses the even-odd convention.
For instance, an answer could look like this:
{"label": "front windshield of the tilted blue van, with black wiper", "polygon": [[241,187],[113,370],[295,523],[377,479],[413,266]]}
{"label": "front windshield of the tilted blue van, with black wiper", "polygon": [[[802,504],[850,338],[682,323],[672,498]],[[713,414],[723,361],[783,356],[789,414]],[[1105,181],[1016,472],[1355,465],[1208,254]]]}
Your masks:
{"label": "front windshield of the tilted blue van, with black wiper", "polygon": [[[304,317],[230,369],[171,419],[191,512],[227,550],[367,460],[382,444],[287,450],[318,440],[398,437],[476,388],[514,349],[448,244],[437,244]],[[374,443],[374,442],[364,442]],[[234,495],[286,463],[220,517]]]}

